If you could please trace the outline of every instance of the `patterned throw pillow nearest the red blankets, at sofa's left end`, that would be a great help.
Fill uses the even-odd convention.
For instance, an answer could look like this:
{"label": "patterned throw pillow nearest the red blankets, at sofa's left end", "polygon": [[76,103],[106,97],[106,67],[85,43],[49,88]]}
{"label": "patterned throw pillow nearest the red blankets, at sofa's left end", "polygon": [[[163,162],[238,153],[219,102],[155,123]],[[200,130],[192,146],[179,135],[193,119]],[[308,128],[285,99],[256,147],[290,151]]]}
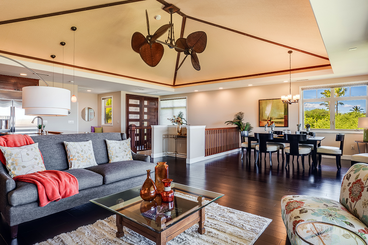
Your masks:
{"label": "patterned throw pillow nearest the red blankets, at sofa's left end", "polygon": [[42,161],[38,143],[21,147],[3,147],[1,151],[6,159],[6,167],[10,177],[43,171],[45,165]]}

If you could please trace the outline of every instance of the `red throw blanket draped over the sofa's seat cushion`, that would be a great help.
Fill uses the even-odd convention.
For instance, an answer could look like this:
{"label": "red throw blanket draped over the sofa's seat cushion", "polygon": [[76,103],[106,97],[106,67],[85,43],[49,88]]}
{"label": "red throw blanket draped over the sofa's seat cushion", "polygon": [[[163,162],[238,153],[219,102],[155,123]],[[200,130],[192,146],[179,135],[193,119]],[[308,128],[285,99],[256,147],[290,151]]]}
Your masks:
{"label": "red throw blanket draped over the sofa's seat cushion", "polygon": [[13,180],[35,184],[38,190],[40,207],[79,193],[77,178],[70,173],[58,170],[45,170],[19,175],[15,176]]}

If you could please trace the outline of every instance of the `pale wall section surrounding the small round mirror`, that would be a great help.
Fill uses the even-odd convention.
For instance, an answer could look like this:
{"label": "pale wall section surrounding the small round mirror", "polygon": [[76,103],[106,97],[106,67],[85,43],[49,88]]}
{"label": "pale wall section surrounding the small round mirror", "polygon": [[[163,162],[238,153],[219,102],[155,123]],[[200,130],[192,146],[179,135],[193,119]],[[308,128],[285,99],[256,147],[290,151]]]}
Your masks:
{"label": "pale wall section surrounding the small round mirror", "polygon": [[[78,93],[77,103],[78,103],[78,131],[80,132],[91,132],[91,126],[98,126],[98,106],[97,106],[97,94],[89,93]],[[83,108],[91,107],[95,111],[95,118],[91,121],[83,120],[81,112]]]}

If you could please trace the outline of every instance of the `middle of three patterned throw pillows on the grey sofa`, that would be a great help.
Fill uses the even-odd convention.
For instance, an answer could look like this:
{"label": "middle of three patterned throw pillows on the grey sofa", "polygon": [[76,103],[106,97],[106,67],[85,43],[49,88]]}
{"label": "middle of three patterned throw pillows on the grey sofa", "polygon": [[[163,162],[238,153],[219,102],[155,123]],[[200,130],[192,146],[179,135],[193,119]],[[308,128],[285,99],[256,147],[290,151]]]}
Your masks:
{"label": "middle of three patterned throw pillows on the grey sofa", "polygon": [[82,142],[64,141],[64,144],[67,150],[69,169],[84,169],[97,166],[92,140]]}

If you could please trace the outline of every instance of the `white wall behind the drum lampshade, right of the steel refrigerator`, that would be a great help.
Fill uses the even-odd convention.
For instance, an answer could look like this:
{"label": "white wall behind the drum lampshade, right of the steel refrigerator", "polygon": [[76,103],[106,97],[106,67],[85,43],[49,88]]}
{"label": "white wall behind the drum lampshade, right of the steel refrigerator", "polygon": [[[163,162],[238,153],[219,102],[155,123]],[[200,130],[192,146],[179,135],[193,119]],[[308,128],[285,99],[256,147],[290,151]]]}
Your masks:
{"label": "white wall behind the drum lampshade, right of the steel refrigerator", "polygon": [[[70,97],[74,94],[78,99],[78,86],[71,83],[52,83],[49,82],[50,86],[59,87],[70,90]],[[46,86],[44,83],[40,83],[40,86]],[[70,114],[67,116],[43,116],[43,120],[47,121],[45,130],[46,131],[78,131],[78,104],[77,102],[70,102]],[[74,121],[74,123],[68,123],[68,121]],[[41,123],[39,121],[39,123]],[[35,125],[36,127],[36,125]]]}

